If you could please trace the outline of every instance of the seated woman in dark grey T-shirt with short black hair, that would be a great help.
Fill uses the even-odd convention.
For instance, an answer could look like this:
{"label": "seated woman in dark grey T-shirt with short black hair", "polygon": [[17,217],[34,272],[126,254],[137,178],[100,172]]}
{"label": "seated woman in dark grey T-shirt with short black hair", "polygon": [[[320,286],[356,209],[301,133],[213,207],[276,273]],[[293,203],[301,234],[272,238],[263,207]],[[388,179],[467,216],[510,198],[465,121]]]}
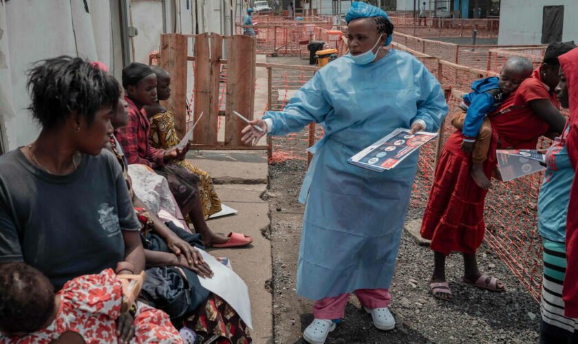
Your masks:
{"label": "seated woman in dark grey T-shirt with short black hair", "polygon": [[[60,56],[36,63],[28,88],[41,133],[0,156],[0,264],[24,261],[54,290],[109,268],[140,273],[140,223],[116,158],[101,153],[118,83],[81,58]],[[120,341],[131,339],[133,321],[118,317]]]}

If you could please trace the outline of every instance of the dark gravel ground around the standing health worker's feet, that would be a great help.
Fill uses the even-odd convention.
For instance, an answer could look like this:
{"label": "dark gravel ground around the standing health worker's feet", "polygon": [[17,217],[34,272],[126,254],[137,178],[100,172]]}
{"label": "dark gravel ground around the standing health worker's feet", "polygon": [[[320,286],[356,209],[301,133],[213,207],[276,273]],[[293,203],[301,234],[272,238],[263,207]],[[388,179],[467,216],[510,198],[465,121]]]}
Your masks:
{"label": "dark gravel ground around the standing health worker's feet", "polygon": [[[299,63],[298,58],[268,58],[272,63]],[[273,148],[302,144],[287,138],[274,138]],[[275,343],[305,343],[301,334],[312,321],[312,301],[295,293],[295,272],[303,204],[297,195],[306,162],[286,160],[269,167],[269,189],[263,198],[270,207],[272,240],[272,294]],[[427,197],[427,195],[414,195]],[[419,219],[411,210],[407,220]],[[345,320],[326,343],[535,343],[539,329],[539,304],[513,277],[509,269],[489,248],[479,250],[480,270],[501,279],[506,292],[493,293],[464,285],[459,255],[448,259],[447,277],[455,300],[434,299],[429,292],[433,268],[429,248],[418,246],[404,232],[396,273],[390,291],[390,310],[396,328],[381,332],[373,327],[370,315],[355,297],[345,310]]]}

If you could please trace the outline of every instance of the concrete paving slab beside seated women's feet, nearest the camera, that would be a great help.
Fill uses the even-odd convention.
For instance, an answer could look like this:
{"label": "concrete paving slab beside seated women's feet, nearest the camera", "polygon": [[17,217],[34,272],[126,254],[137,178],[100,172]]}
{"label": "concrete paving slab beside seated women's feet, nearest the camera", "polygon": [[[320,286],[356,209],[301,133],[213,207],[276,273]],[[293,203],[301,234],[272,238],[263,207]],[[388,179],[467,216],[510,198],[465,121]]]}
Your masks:
{"label": "concrete paving slab beside seated women's feet, nearest the camera", "polygon": [[228,257],[233,270],[247,283],[253,314],[253,343],[273,343],[272,295],[266,289],[272,276],[271,243],[261,234],[270,224],[268,202],[259,197],[266,189],[260,185],[217,185],[217,193],[224,204],[239,213],[208,221],[215,233],[231,231],[253,237],[253,244],[244,248],[209,248],[215,257]]}

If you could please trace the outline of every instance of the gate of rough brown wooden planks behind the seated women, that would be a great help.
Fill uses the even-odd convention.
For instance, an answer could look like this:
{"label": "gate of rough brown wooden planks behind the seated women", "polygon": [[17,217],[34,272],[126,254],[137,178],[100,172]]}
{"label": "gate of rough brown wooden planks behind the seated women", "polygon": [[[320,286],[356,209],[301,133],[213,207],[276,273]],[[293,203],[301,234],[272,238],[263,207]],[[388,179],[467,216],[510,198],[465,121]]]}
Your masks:
{"label": "gate of rough brown wooden planks behind the seated women", "polygon": [[[193,56],[187,56],[188,41],[193,39]],[[223,45],[226,46],[225,61]],[[246,123],[233,115],[239,112],[253,120],[255,105],[255,55],[253,37],[220,36],[215,33],[198,35],[162,34],[160,66],[171,74],[171,99],[164,103],[175,115],[178,136],[186,133],[187,63],[194,61],[193,119],[198,121],[193,131],[193,149],[266,149],[250,147],[241,140]],[[219,105],[222,72],[226,65],[224,110],[224,140],[219,140]],[[202,117],[201,117],[202,114]],[[223,127],[223,125],[221,125]]]}

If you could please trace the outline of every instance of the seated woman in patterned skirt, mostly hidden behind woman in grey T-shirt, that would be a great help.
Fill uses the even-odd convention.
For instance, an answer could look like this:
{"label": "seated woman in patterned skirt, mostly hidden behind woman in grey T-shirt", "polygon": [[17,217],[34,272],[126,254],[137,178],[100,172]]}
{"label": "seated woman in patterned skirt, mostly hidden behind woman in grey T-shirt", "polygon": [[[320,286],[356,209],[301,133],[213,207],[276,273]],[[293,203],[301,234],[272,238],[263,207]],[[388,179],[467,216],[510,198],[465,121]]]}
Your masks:
{"label": "seated woman in patterned skirt, mostly hidden behind woman in grey T-shirt", "polygon": [[[114,129],[120,129],[127,125],[127,105],[126,101],[121,97],[118,100],[118,106],[114,113],[111,123]],[[122,169],[126,171],[129,166],[122,147],[116,143],[116,138],[111,134],[109,149],[115,153],[118,162]],[[137,166],[133,164],[131,166]],[[129,190],[132,190],[132,180],[127,175],[127,184]],[[204,248],[202,240],[199,235],[191,235],[173,222],[162,222],[154,212],[149,211],[142,201],[132,195],[135,210],[138,213],[138,218],[142,224],[142,237],[147,249],[144,250],[144,255],[147,260],[147,275],[158,276],[158,270],[153,271],[158,267],[180,266],[181,270],[192,270],[198,276],[212,277],[213,272],[211,268],[203,261],[199,252],[193,247]],[[200,208],[200,202],[195,204]],[[217,334],[220,337],[217,343],[233,343],[248,344],[251,342],[250,333],[247,325],[242,321],[237,312],[231,308],[226,301],[220,299],[217,295],[209,293],[208,290],[200,286],[195,276],[191,276],[185,272],[189,288],[191,288],[189,297],[189,308],[184,316],[182,314],[174,314],[171,310],[167,310],[173,323],[177,327],[186,326],[196,332],[198,336],[208,338]],[[156,294],[155,286],[144,286],[144,294],[147,299],[153,303],[163,303],[159,295]],[[148,293],[147,293],[148,292]],[[174,308],[173,308],[174,309]],[[225,339],[226,338],[226,339]]]}

